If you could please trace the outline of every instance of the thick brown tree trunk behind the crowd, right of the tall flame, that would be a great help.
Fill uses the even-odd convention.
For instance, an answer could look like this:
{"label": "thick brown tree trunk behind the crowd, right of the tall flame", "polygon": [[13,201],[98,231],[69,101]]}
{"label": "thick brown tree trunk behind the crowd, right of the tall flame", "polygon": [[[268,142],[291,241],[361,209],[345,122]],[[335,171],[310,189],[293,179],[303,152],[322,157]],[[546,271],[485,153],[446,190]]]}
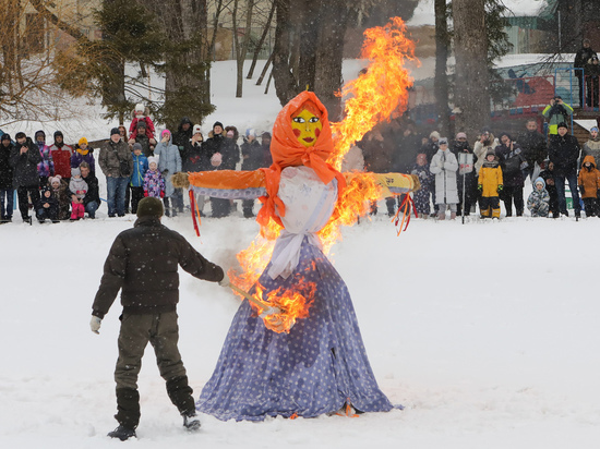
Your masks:
{"label": "thick brown tree trunk behind the crowd, right of the tall flame", "polygon": [[456,131],[466,132],[472,141],[489,124],[490,119],[488,38],[483,3],[480,0],[454,0],[453,19]]}

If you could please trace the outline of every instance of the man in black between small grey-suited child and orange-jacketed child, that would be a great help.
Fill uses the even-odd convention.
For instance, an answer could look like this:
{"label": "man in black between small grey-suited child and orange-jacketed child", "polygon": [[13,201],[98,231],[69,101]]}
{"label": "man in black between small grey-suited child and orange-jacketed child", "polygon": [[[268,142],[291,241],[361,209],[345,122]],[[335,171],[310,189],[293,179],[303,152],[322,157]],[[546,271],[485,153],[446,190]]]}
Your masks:
{"label": "man in black between small grey-suited child and orange-jacketed child", "polygon": [[579,143],[577,138],[567,134],[566,123],[559,124],[559,134],[550,136],[548,156],[554,163],[554,182],[559,195],[559,210],[568,217],[565,198],[565,180],[571,189],[575,217],[580,217],[581,205],[579,204],[579,192],[577,187],[577,159],[579,159]]}

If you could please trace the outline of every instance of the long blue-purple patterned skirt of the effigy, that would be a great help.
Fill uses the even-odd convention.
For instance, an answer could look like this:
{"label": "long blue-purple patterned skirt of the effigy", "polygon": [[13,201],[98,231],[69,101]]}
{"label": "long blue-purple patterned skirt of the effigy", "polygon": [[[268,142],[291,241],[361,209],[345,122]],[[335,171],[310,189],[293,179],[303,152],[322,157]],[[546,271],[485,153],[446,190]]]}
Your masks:
{"label": "long blue-purple patterned skirt of the effigy", "polygon": [[271,279],[269,266],[259,281],[265,294],[291,288],[298,276],[316,284],[309,317],[290,333],[276,333],[243,301],[197,410],[224,421],[313,417],[348,403],[361,412],[392,410],[369,364],[348,289],[321,250],[304,239],[300,263],[285,280]]}

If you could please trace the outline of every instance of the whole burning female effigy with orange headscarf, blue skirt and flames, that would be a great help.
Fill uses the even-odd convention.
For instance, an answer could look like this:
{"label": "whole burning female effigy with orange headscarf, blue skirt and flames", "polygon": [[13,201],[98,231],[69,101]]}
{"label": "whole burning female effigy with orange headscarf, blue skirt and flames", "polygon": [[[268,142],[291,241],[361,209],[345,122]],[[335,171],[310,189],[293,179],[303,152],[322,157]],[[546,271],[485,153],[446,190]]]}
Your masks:
{"label": "whole burning female effigy with orange headscarf, blue skirt and flames", "polygon": [[[387,44],[372,40],[401,59],[410,46],[398,26],[404,27],[401,21],[381,28]],[[398,38],[401,48],[394,44]],[[363,135],[377,120],[406,108],[410,81],[401,60],[393,73],[386,73],[387,60],[380,68],[386,80],[379,83],[382,73],[371,69],[374,63],[362,75],[369,78],[357,83],[367,82],[372,92],[368,97],[353,93],[357,110],[351,106],[348,110],[347,102],[346,119],[356,121],[348,128],[351,136],[343,124],[333,126],[334,135],[323,104],[314,93],[303,92],[277,116],[271,168],[188,173],[191,198],[194,194],[257,197],[263,203],[256,218],[261,236],[238,255],[241,272],[229,271],[232,289],[249,301],[233,317],[217,366],[196,403],[199,411],[219,420],[262,421],[278,415],[312,417],[345,408],[360,412],[393,408],[369,364],[350,293],[325,255],[338,239],[339,227],[355,223],[369,201],[419,187],[413,175],[341,173],[336,168],[361,131]],[[398,93],[393,100],[387,98],[388,83]],[[377,95],[386,99],[379,100]],[[379,112],[372,110],[373,104]],[[371,108],[362,118],[361,107]]]}

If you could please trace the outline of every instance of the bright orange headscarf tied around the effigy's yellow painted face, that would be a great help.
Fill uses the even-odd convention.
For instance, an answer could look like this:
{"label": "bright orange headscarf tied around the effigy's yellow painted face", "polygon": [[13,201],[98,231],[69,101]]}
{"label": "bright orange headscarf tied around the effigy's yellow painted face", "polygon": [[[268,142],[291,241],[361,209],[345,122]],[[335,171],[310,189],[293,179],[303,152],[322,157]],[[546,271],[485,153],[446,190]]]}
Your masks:
{"label": "bright orange headscarf tied around the effigy's yellow painted face", "polygon": [[[317,111],[313,109],[316,107]],[[320,117],[323,129],[316,138],[316,142],[311,147],[305,147],[298,137],[293,134],[291,128],[291,119],[302,109],[309,109],[315,116]],[[266,193],[267,196],[261,196],[259,199],[263,203],[256,221],[262,226],[268,223],[268,219],[273,218],[281,227],[279,216],[286,215],[286,208],[281,199],[277,196],[279,191],[279,181],[281,170],[286,167],[307,166],[312,168],[316,175],[324,184],[337,179],[338,196],[346,186],[344,175],[325,162],[329,155],[334,151],[334,143],[332,139],[332,129],[327,117],[327,109],[313,92],[302,92],[297,97],[292,98],[275,119],[273,125],[273,141],[271,142],[271,154],[273,155],[273,165],[268,169],[261,169],[265,173]],[[277,206],[277,213],[275,213]]]}

